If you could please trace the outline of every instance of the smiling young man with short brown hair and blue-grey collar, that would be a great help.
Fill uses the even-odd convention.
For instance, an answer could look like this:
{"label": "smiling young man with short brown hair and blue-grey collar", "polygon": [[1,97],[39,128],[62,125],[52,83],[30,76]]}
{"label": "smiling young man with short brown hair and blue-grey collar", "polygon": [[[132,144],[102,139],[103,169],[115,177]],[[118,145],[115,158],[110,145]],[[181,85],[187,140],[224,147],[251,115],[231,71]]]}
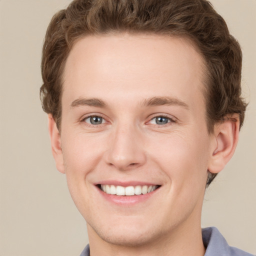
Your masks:
{"label": "smiling young man with short brown hair and blue-grey collar", "polygon": [[87,222],[84,255],[250,255],[201,230],[233,155],[241,51],[205,0],[74,0],[52,18],[41,99]]}

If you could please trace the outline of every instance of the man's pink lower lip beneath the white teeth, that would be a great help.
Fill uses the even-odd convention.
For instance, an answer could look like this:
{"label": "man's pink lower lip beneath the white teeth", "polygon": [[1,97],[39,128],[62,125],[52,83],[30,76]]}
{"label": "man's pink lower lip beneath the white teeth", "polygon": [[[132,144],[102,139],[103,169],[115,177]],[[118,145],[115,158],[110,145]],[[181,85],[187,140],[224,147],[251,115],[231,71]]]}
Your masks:
{"label": "man's pink lower lip beneath the white teeth", "polygon": [[100,194],[104,197],[104,199],[118,204],[118,205],[133,205],[136,203],[140,203],[143,201],[146,201],[147,199],[149,199],[152,195],[154,195],[157,190],[159,189],[156,188],[154,191],[150,192],[150,193],[146,193],[146,194],[139,194],[139,195],[116,195],[116,194],[107,194],[104,191],[102,191],[100,188],[97,187],[97,189],[99,190]]}

